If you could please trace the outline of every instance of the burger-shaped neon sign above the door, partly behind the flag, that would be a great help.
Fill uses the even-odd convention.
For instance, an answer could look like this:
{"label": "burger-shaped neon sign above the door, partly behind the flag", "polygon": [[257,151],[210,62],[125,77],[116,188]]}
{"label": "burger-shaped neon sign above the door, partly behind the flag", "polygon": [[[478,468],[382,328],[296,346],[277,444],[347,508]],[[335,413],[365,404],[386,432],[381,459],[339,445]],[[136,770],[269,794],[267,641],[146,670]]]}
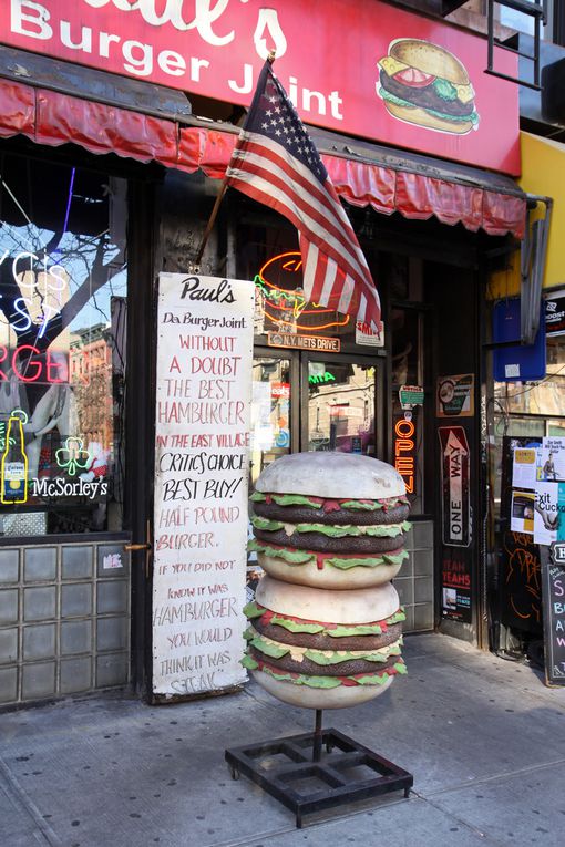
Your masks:
{"label": "burger-shaped neon sign above the door, partly behind the flag", "polygon": [[[255,285],[265,298],[265,314],[279,332],[316,332],[330,327],[346,327],[350,321],[348,314],[338,314],[335,309],[309,303],[300,286],[282,288],[269,279],[274,273],[301,276],[301,271],[302,257],[298,250],[279,254],[265,262],[255,277]],[[300,322],[302,318],[306,320]]]}

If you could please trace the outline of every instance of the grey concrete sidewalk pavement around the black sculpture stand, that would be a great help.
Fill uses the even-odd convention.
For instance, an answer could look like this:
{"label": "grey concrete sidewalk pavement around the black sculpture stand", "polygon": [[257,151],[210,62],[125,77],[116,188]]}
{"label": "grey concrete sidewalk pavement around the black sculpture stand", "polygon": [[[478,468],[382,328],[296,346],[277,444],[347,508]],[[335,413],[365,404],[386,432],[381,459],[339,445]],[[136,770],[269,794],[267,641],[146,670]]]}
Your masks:
{"label": "grey concrete sidewalk pavement around the black sculpture stand", "polygon": [[565,689],[445,636],[409,636],[409,674],[382,696],[326,712],[410,771],[403,793],[291,812],[226,747],[309,732],[314,713],[255,684],[147,706],[122,694],[0,714],[2,847],[502,847],[565,844]]}

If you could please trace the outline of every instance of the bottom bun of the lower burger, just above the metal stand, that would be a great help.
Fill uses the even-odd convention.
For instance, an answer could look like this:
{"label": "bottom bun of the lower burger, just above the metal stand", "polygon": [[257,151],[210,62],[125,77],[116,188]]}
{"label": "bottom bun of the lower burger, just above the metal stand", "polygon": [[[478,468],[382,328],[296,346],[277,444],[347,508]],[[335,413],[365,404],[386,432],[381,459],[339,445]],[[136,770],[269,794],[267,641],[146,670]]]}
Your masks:
{"label": "bottom bun of the lower burger, just above the metal stand", "polygon": [[389,676],[382,685],[340,685],[336,689],[310,689],[294,682],[276,680],[263,671],[249,671],[254,680],[277,700],[304,709],[349,709],[367,703],[382,694],[393,681]]}

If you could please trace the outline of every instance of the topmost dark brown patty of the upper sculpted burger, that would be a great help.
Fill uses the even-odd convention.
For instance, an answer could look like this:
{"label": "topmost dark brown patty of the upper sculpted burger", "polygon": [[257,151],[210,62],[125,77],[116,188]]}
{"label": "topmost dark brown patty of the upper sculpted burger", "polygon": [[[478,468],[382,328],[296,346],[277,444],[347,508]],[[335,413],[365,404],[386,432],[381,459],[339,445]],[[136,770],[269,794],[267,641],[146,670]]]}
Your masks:
{"label": "topmost dark brown patty of the upper sculpted burger", "polygon": [[[397,497],[393,498],[398,500]],[[337,503],[337,502],[336,502]],[[256,515],[282,520],[288,524],[335,524],[336,526],[353,525],[369,526],[371,524],[401,524],[410,514],[410,506],[400,504],[393,508],[380,509],[348,509],[340,506],[331,512],[311,506],[279,506],[275,500],[270,503],[251,503]]]}

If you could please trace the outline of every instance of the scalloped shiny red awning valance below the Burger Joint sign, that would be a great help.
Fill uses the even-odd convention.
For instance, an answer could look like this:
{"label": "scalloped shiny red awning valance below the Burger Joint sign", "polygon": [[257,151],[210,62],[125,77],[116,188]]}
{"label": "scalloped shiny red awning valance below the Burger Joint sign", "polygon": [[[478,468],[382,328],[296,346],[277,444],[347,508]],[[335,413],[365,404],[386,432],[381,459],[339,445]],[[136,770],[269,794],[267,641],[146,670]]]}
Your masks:
{"label": "scalloped shiny red awning valance below the Burger Joint sign", "polygon": [[[158,162],[188,173],[202,169],[220,179],[236,135],[216,128],[182,126],[174,121],[59,94],[45,89],[0,82],[0,137],[22,134],[38,144],[79,144],[91,153],[115,153],[137,162]],[[367,156],[370,158],[370,154]],[[322,154],[336,190],[355,206],[444,224],[472,231],[524,236],[526,199],[515,193],[429,176],[381,163]]]}

